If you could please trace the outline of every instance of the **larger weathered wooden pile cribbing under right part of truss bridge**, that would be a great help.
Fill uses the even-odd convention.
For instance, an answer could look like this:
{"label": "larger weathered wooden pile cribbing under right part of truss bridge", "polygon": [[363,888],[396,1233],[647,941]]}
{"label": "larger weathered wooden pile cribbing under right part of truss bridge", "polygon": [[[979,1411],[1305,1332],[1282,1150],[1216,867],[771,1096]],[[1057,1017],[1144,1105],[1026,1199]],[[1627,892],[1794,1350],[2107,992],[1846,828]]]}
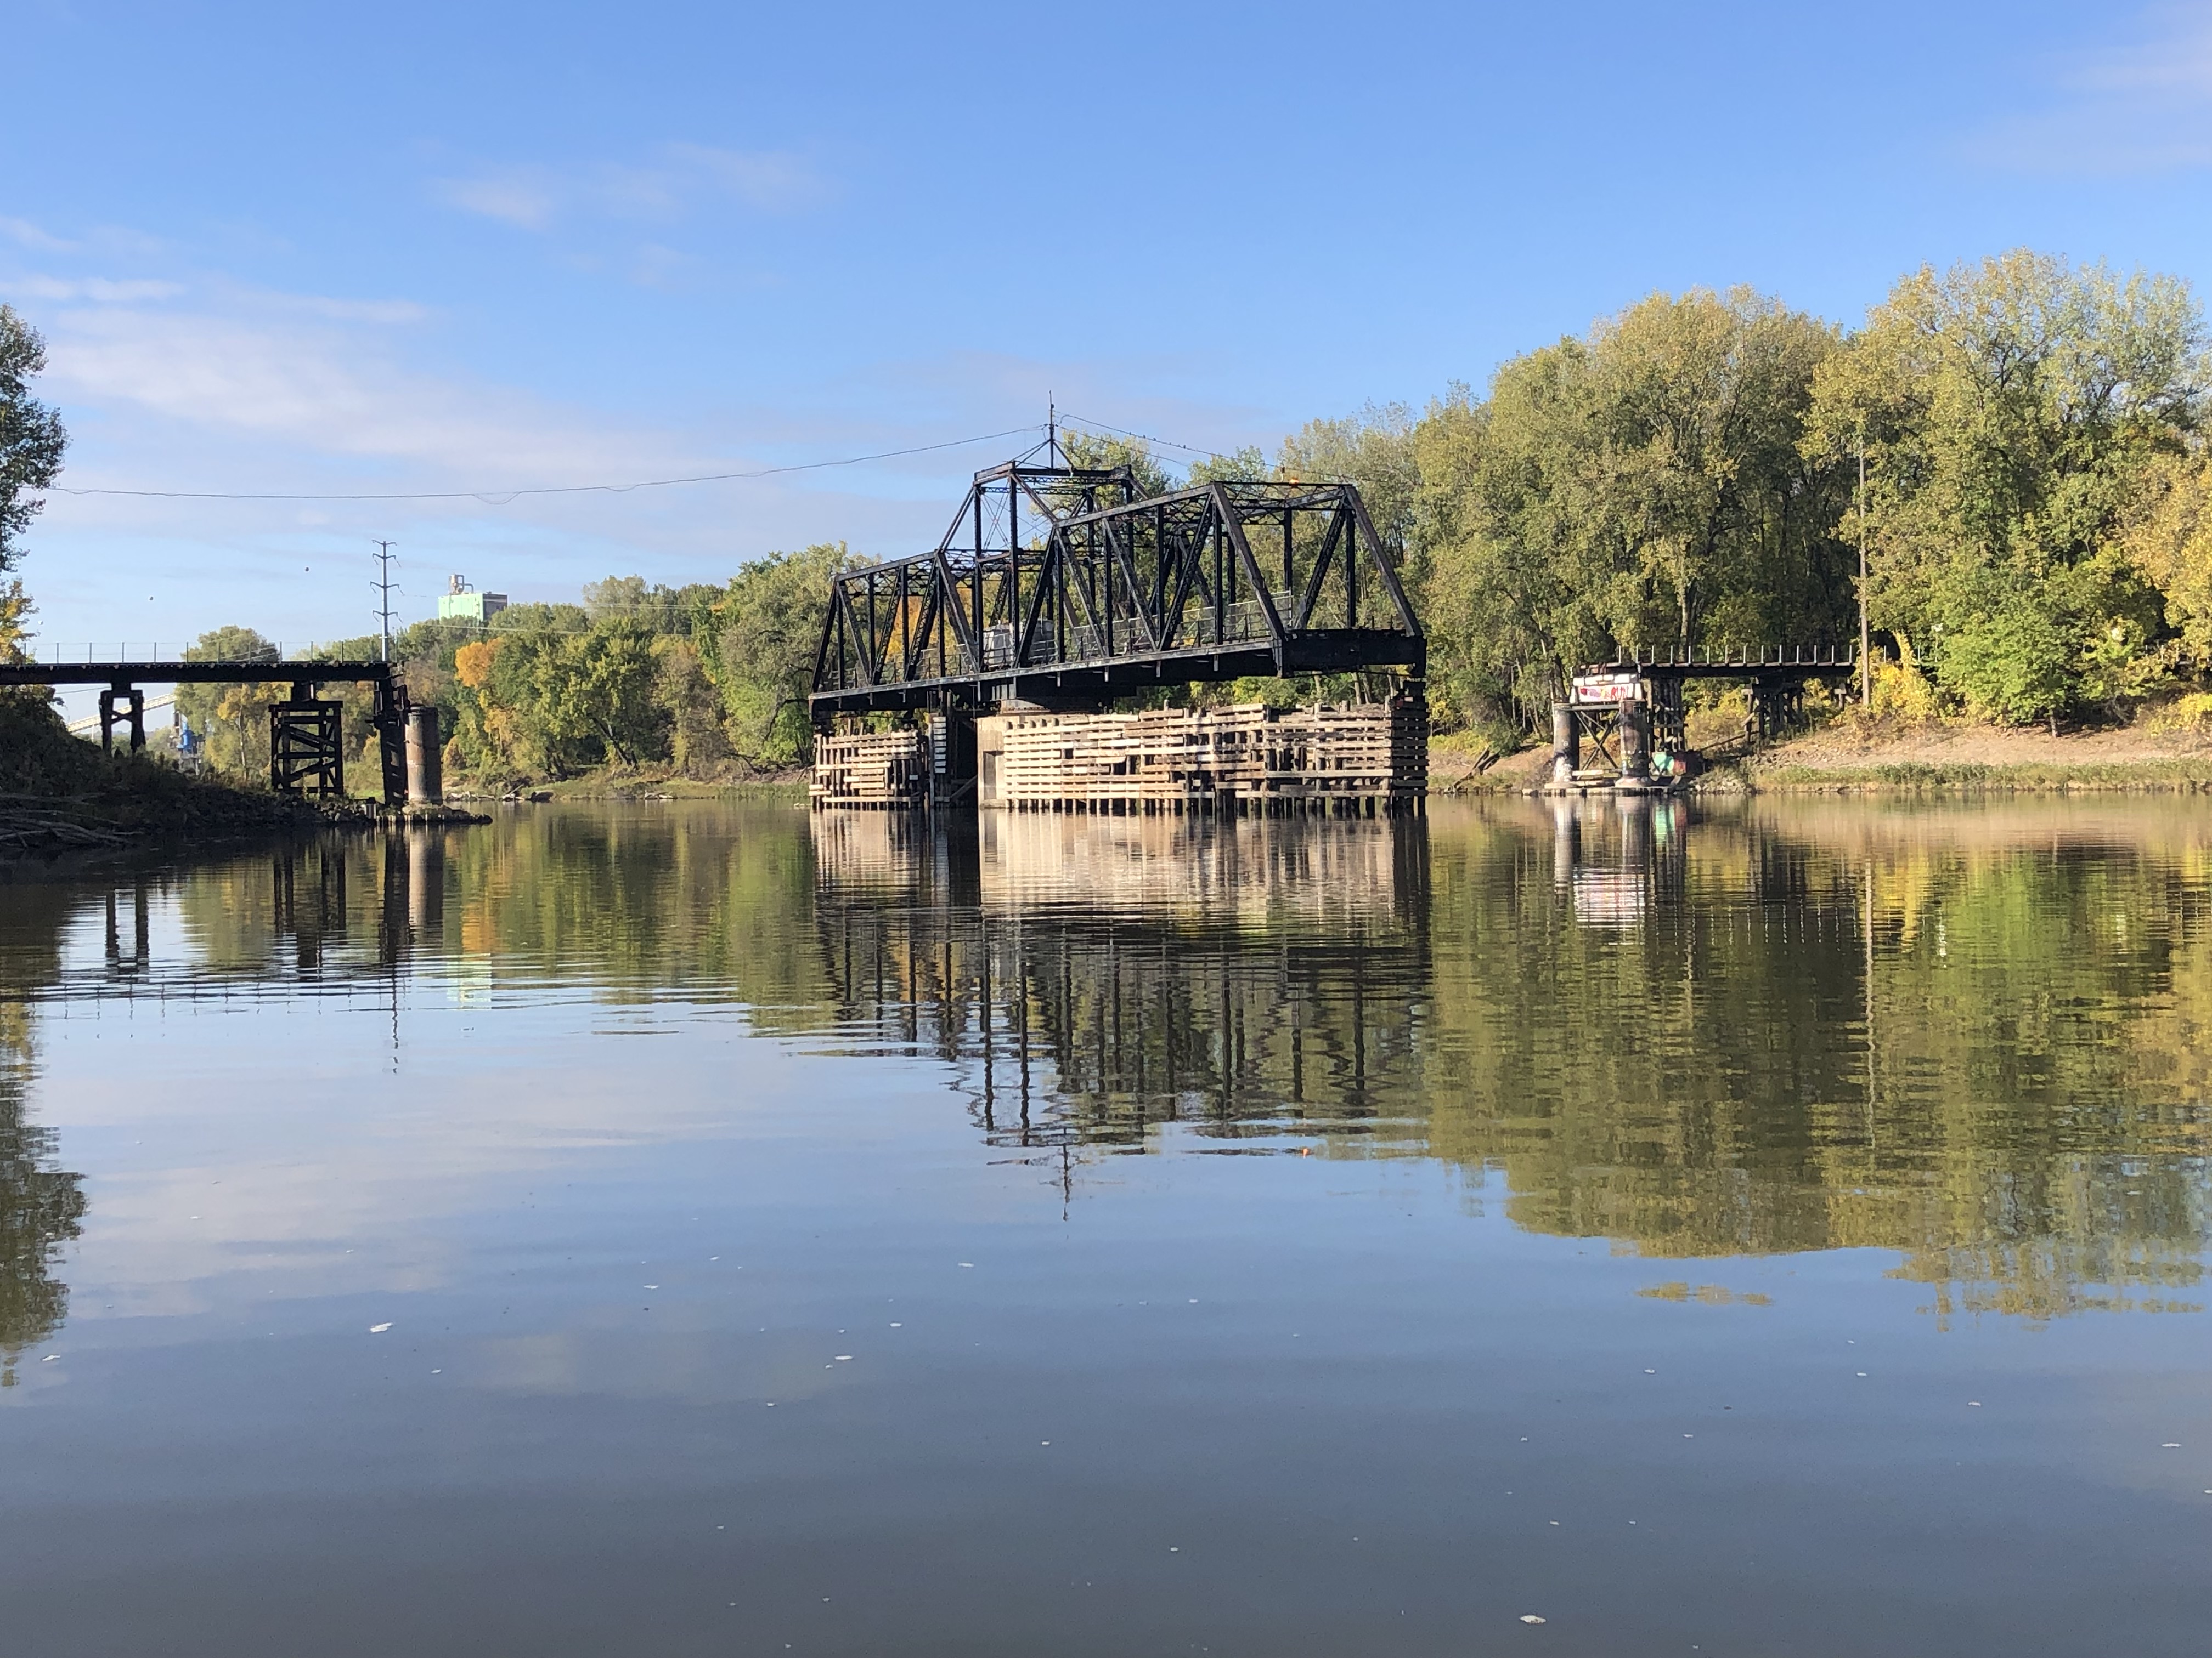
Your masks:
{"label": "larger weathered wooden pile cribbing under right part of truss bridge", "polygon": [[995,736],[978,732],[978,800],[1011,811],[1383,816],[1418,811],[1429,787],[1418,696],[1285,712],[1009,714]]}

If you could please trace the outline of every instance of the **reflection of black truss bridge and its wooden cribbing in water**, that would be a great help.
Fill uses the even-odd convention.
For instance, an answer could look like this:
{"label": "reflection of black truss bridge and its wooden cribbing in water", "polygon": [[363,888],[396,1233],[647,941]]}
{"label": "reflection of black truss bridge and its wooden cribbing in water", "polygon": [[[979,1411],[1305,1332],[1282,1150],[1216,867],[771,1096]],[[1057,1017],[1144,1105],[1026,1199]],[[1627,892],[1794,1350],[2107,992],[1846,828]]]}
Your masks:
{"label": "reflection of black truss bridge and its wooden cribbing in water", "polygon": [[[1418,820],[816,814],[841,1028],[978,1061],[987,1134],[1374,1132],[1413,1081]],[[1239,1145],[1241,1143],[1241,1145]]]}

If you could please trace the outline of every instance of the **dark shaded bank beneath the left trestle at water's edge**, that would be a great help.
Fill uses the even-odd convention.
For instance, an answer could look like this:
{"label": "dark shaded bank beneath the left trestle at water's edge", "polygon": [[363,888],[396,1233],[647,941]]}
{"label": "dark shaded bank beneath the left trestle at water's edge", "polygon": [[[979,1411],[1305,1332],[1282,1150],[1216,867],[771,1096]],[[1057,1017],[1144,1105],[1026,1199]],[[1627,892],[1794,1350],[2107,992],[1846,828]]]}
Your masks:
{"label": "dark shaded bank beneath the left trestle at water's edge", "polygon": [[0,878],[321,822],[305,800],[192,778],[144,754],[102,754],[46,703],[0,694]]}

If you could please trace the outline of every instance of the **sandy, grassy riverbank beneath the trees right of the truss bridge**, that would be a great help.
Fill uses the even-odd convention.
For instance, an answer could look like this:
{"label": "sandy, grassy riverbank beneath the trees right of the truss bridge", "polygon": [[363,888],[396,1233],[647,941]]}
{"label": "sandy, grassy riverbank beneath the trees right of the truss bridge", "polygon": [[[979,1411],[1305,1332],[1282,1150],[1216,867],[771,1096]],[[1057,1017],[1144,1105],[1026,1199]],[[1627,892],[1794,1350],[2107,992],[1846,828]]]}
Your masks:
{"label": "sandy, grassy riverbank beneath the trees right of the truss bridge", "polygon": [[[1551,765],[1542,745],[1489,767],[1482,767],[1482,745],[1464,734],[1438,736],[1429,745],[1431,791],[1517,794],[1537,787]],[[2051,736],[2044,730],[1971,723],[1858,732],[1838,723],[1723,760],[1699,787],[1743,794],[2212,791],[2212,732],[2130,725]]]}

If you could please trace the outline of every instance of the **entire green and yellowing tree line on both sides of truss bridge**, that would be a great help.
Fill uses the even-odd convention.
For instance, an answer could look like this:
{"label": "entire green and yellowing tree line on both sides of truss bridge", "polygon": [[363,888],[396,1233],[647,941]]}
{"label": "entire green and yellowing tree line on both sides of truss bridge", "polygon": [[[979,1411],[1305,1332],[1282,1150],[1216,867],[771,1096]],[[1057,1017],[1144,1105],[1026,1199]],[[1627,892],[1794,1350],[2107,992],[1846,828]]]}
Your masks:
{"label": "entire green and yellowing tree line on both sides of truss bridge", "polygon": [[[13,338],[0,391],[38,363]],[[1440,725],[1500,743],[1624,650],[1854,643],[1863,553],[1878,703],[2057,725],[2212,710],[2208,385],[2185,281],[2015,250],[1911,272],[1858,327],[1745,287],[1652,294],[1480,393],[1312,420],[1272,460],[1179,475],[1137,440],[1068,449],[1148,491],[1356,482],[1429,630]],[[15,433],[27,475],[58,440]],[[0,568],[22,522],[0,517]],[[816,544],[721,586],[613,577],[398,643],[478,776],[765,769],[805,752],[827,579],[856,562]],[[199,701],[252,745],[246,699]]]}

